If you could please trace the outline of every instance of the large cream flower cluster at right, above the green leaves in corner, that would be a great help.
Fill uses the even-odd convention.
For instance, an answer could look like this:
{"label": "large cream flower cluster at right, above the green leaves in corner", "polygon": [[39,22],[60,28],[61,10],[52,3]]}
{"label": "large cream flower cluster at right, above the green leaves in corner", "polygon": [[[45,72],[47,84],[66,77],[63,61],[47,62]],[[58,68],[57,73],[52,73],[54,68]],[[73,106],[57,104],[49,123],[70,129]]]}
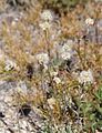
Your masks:
{"label": "large cream flower cluster at right, above the green leaves in corner", "polygon": [[82,71],[78,78],[79,82],[82,83],[93,83],[93,74],[92,71],[89,69],[88,71]]}

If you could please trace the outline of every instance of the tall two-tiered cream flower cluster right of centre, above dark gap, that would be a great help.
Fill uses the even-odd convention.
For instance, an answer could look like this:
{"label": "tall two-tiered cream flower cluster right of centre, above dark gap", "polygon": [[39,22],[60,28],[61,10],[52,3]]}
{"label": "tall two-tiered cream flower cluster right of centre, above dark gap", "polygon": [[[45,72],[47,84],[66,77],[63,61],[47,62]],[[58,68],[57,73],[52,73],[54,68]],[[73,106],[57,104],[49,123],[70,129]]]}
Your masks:
{"label": "tall two-tiered cream flower cluster right of centre, above dark gap", "polygon": [[73,54],[73,51],[72,51],[72,41],[67,41],[62,47],[60,47],[60,50],[59,50],[59,55],[61,59],[63,60],[68,60],[68,59],[71,59],[72,54]]}

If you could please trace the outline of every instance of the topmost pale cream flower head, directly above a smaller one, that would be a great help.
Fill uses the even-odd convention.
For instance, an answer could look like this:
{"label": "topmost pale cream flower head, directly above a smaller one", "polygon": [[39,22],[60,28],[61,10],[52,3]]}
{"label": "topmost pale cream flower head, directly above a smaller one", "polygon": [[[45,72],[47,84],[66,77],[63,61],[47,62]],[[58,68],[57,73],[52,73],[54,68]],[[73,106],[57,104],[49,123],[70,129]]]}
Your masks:
{"label": "topmost pale cream flower head, directly above a smaller one", "polygon": [[53,14],[52,14],[51,10],[43,10],[43,12],[41,13],[41,19],[44,21],[52,21]]}

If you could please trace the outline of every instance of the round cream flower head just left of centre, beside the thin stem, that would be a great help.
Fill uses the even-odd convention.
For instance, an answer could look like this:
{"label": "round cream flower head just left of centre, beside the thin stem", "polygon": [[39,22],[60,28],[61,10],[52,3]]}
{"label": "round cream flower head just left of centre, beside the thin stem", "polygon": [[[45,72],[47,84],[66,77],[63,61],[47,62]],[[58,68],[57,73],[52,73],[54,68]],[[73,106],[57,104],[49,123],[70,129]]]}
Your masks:
{"label": "round cream flower head just left of centre, beside the thin stem", "polygon": [[49,63],[49,55],[47,53],[39,53],[35,57],[39,64],[47,65]]}

